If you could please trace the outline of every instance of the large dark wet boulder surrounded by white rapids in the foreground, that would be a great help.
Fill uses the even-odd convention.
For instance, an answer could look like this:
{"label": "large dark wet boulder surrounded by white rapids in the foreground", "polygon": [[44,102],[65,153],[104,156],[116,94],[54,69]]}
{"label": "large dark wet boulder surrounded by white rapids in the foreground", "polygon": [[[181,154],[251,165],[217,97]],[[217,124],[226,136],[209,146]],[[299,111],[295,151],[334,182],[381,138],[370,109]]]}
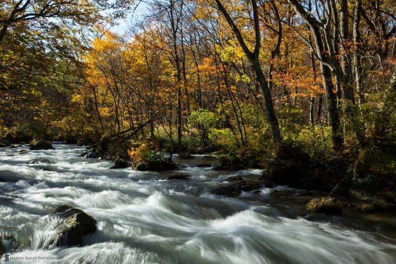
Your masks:
{"label": "large dark wet boulder surrounded by white rapids in the foreground", "polygon": [[[96,220],[91,215],[81,209],[67,209],[67,207],[66,205],[60,209],[60,212],[54,213],[62,221],[56,227],[55,237],[45,245],[45,248],[79,245],[84,235],[96,231]],[[62,211],[62,209],[66,210]]]}

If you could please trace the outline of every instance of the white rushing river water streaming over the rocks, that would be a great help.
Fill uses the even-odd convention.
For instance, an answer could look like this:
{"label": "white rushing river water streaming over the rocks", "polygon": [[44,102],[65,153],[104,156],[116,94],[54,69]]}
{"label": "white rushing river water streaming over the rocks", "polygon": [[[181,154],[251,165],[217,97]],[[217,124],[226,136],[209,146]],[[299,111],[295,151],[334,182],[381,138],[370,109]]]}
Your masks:
{"label": "white rushing river water streaming over the rocks", "polygon": [[[311,214],[304,208],[311,197],[267,188],[236,198],[211,194],[229,176],[254,178],[261,170],[216,172],[196,168],[202,161],[194,159],[178,172],[190,179],[167,180],[165,173],[111,170],[111,162],[80,157],[83,147],[54,147],[26,154],[0,148],[0,232],[20,244],[1,240],[9,263],[396,263],[394,215]],[[80,247],[44,249],[59,223],[48,214],[61,204],[91,214],[98,230]],[[34,257],[46,259],[28,260]]]}

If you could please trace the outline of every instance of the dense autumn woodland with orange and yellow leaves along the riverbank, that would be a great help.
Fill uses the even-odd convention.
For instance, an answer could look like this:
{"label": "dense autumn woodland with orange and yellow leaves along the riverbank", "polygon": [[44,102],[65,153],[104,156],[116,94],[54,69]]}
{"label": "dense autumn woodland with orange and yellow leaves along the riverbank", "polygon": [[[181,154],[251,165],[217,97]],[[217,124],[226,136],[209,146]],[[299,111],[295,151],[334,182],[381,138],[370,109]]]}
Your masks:
{"label": "dense autumn woodland with orange and yellow leaves along the riverbank", "polygon": [[[142,2],[125,34],[109,30]],[[275,183],[394,203],[395,11],[393,0],[2,0],[1,142],[93,144],[135,163],[216,151]]]}

